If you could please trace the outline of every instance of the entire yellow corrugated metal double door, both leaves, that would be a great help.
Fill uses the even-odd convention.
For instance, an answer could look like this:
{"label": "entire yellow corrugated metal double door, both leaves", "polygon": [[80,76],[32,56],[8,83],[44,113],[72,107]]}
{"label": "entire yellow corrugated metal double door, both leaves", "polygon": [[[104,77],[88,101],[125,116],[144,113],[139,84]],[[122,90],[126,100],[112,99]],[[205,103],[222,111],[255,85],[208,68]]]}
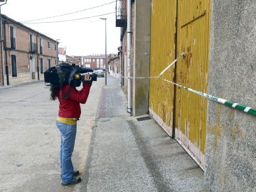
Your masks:
{"label": "entire yellow corrugated metal double door, both leaves", "polygon": [[[152,1],[151,77],[184,52],[163,78],[207,92],[209,33],[210,0]],[[171,136],[175,127],[178,142],[204,166],[206,98],[159,78],[150,83],[150,114]]]}

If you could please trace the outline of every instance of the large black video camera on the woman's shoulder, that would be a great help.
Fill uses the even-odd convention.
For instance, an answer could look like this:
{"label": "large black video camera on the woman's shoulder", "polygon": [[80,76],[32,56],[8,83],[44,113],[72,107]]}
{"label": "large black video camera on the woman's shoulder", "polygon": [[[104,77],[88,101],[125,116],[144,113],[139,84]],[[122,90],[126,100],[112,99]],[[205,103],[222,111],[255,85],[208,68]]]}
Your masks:
{"label": "large black video camera on the woman's shoulder", "polygon": [[43,75],[46,86],[58,88],[63,85],[73,85],[74,87],[79,87],[86,73],[91,73],[90,77],[92,80],[97,81],[97,75],[92,72],[93,70],[90,68],[81,68],[78,65],[61,63],[49,68]]}

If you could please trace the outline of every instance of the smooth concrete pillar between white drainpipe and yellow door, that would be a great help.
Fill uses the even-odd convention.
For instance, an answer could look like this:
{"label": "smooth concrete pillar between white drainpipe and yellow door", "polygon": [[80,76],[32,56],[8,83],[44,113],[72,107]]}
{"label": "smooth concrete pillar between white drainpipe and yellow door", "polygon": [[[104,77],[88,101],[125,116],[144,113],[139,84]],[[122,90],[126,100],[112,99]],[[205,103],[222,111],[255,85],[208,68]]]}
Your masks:
{"label": "smooth concrete pillar between white drainpipe and yellow door", "polygon": [[[135,1],[134,6],[134,77],[149,77],[151,1]],[[149,78],[133,80],[134,116],[149,113]]]}

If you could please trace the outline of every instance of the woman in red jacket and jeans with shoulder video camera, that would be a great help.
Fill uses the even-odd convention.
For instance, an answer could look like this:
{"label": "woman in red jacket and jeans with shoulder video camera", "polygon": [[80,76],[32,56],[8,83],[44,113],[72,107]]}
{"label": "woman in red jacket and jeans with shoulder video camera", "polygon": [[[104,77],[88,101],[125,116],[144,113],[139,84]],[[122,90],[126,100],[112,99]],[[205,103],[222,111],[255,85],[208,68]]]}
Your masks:
{"label": "woman in red jacket and jeans with shoulder video camera", "polygon": [[[80,118],[80,104],[85,104],[96,74],[91,69],[61,63],[44,73],[45,83],[50,86],[50,99],[59,101],[56,125],[60,131],[61,184],[68,186],[80,183],[80,172],[73,168],[71,156],[75,146],[77,122]],[[82,89],[77,90],[82,83]]]}

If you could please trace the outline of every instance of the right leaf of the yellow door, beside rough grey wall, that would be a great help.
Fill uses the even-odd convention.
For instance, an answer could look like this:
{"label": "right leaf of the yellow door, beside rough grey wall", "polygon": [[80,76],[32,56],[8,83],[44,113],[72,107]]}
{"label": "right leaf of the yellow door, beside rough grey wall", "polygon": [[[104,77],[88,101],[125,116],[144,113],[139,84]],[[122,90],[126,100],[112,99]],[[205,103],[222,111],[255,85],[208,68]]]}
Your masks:
{"label": "right leaf of the yellow door, beside rough grey wall", "polygon": [[[178,0],[177,53],[186,53],[176,65],[176,82],[208,92],[210,0]],[[176,88],[175,137],[204,167],[207,99]]]}

